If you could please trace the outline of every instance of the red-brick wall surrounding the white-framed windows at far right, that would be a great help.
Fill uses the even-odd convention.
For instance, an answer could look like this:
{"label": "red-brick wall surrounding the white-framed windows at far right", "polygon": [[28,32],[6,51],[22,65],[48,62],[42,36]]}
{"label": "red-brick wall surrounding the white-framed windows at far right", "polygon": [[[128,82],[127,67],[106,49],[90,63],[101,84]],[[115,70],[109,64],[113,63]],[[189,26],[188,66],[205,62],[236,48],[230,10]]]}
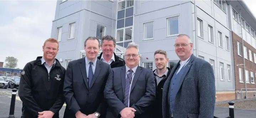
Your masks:
{"label": "red-brick wall surrounding the white-framed windows at far right", "polygon": [[[235,71],[235,90],[236,90],[236,98],[241,99],[241,88],[245,88],[245,83],[241,83],[239,81],[239,68],[242,69],[242,74],[243,74],[243,82],[245,82],[245,70],[249,71],[249,82],[250,84],[246,84],[247,89],[256,89],[256,84],[251,84],[251,73],[254,73],[254,80],[256,80],[255,73],[256,73],[256,64],[252,61],[249,60],[249,50],[252,51],[252,59],[254,61],[254,53],[256,53],[256,49],[252,47],[249,43],[244,41],[244,46],[247,47],[247,57],[248,60],[245,59],[245,70],[244,70],[244,65],[238,65],[237,64],[244,64],[243,57],[238,55],[237,52],[237,42],[241,44],[241,55],[243,56],[244,54],[244,47],[242,45],[242,39],[234,32],[232,32],[232,39],[233,39],[233,56],[234,56],[234,71]],[[238,93],[240,91],[240,93]],[[242,90],[243,96],[245,96],[244,90]],[[253,94],[256,94],[255,90],[248,90],[247,91],[247,96],[248,98],[254,97]],[[244,98],[244,97],[243,97]]]}

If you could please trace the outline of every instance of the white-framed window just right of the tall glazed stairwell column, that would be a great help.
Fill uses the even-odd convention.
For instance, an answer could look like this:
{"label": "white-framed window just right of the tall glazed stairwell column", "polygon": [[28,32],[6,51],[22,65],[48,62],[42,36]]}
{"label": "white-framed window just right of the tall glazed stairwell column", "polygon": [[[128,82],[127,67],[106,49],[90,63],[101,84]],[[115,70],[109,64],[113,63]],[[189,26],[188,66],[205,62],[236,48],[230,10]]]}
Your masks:
{"label": "white-framed window just right of the tall glazed stairwell column", "polygon": [[144,23],[144,39],[153,39],[154,22]]}

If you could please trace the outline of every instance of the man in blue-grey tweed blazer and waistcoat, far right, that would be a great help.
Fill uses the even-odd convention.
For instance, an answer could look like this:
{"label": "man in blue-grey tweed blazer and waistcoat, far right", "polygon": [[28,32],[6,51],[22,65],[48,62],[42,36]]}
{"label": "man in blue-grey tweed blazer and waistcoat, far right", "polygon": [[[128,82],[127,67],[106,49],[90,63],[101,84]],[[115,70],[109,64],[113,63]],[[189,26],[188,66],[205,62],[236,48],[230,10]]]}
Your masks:
{"label": "man in blue-grey tweed blazer and waistcoat, far right", "polygon": [[215,77],[212,66],[192,54],[186,34],[177,36],[175,52],[180,61],[163,86],[163,118],[213,118]]}

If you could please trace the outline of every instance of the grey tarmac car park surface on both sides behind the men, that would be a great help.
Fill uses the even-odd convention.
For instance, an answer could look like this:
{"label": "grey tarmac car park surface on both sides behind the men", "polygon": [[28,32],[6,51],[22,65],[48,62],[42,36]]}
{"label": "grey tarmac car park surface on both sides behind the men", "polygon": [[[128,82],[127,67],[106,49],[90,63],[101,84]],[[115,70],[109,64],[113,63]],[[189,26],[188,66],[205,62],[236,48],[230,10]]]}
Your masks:
{"label": "grey tarmac car park surface on both sides behind the men", "polygon": [[[18,91],[17,91],[18,92]],[[8,118],[10,112],[10,104],[11,104],[11,89],[3,89],[0,88],[0,118]],[[21,108],[22,102],[18,94],[16,95],[15,101],[15,118],[21,117]],[[63,118],[63,114],[66,108],[66,104],[63,105],[61,111],[59,112],[59,118]],[[234,109],[235,118],[256,118],[256,110],[255,109]],[[215,107],[214,116],[218,118],[226,118],[229,116],[229,108],[227,107]]]}

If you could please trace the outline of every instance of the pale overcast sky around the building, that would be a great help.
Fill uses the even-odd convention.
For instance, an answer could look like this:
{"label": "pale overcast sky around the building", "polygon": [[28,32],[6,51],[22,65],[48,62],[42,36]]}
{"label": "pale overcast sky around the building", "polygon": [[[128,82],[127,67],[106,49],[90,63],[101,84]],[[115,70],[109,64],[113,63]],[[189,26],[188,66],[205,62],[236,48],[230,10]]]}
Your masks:
{"label": "pale overcast sky around the building", "polygon": [[[0,62],[8,56],[17,58],[21,68],[42,56],[42,45],[51,36],[56,0],[0,0]],[[246,0],[256,16],[256,0]],[[256,30],[256,29],[255,29]]]}

